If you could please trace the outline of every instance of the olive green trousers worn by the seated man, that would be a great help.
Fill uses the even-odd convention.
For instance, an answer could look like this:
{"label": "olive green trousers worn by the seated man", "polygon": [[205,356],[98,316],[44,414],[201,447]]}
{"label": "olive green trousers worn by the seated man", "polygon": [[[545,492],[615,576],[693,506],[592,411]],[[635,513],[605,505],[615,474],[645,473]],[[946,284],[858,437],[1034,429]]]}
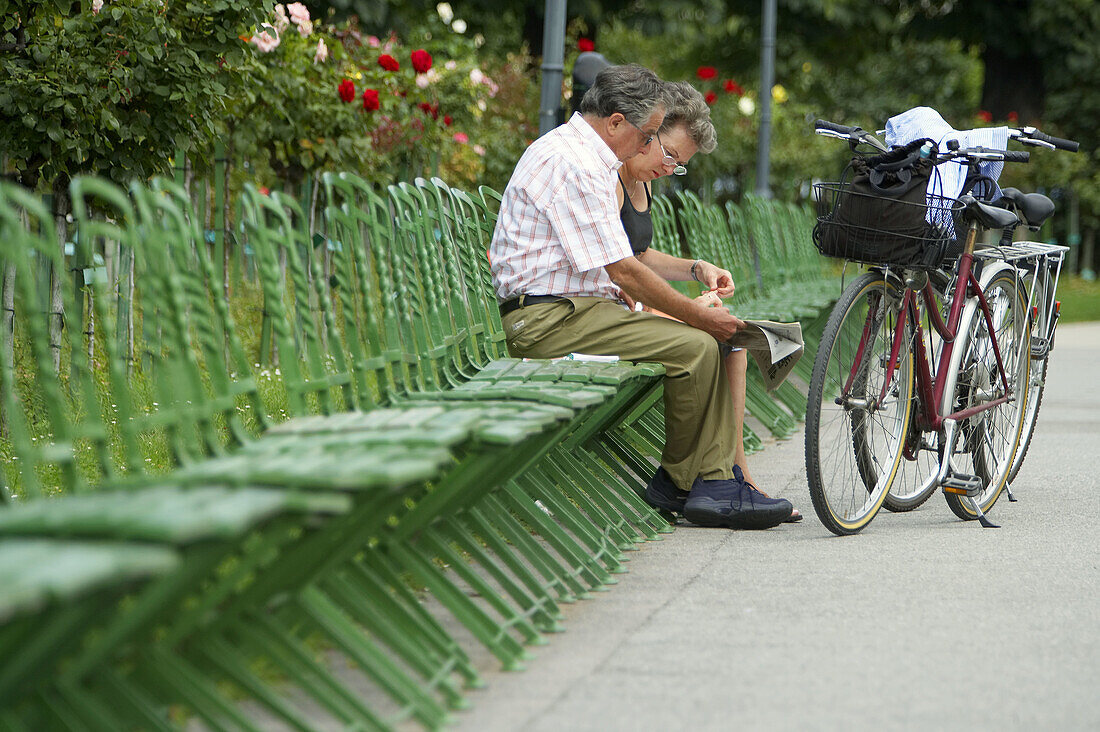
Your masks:
{"label": "olive green trousers worn by the seated man", "polygon": [[504,316],[508,352],[552,359],[572,352],[664,365],[661,465],[682,490],[696,478],[734,477],[734,405],[715,339],[689,325],[634,313],[604,297],[569,297]]}

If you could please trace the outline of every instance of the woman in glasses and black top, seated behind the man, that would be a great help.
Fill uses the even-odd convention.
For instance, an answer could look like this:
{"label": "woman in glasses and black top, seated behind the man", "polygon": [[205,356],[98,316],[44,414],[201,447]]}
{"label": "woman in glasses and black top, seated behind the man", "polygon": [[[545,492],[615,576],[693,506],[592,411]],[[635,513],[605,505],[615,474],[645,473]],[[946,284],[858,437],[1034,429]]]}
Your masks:
{"label": "woman in glasses and black top, seated behind the man", "polygon": [[[698,270],[713,267],[713,264],[672,256],[649,247],[653,239],[653,221],[649,210],[652,203],[650,182],[670,173],[685,174],[688,162],[696,152],[710,153],[717,145],[717,135],[711,122],[711,109],[703,95],[685,81],[669,84],[668,95],[670,102],[664,122],[657,138],[650,143],[649,150],[629,159],[619,168],[617,190],[619,214],[630,247],[642,263],[666,280],[701,280]],[[723,273],[728,275],[724,271]],[[685,277],[685,274],[690,277]],[[729,281],[732,282],[732,278]],[[722,297],[732,294],[733,287],[729,287],[728,291],[703,293],[697,299],[713,307],[723,307]],[[724,352],[726,351],[729,351],[725,356],[726,379],[729,381],[729,393],[734,400],[737,446],[735,473],[739,470],[745,482],[756,488],[745,459],[745,370],[748,367],[748,358],[743,349],[724,348]],[[802,514],[795,509],[788,522],[801,520]]]}

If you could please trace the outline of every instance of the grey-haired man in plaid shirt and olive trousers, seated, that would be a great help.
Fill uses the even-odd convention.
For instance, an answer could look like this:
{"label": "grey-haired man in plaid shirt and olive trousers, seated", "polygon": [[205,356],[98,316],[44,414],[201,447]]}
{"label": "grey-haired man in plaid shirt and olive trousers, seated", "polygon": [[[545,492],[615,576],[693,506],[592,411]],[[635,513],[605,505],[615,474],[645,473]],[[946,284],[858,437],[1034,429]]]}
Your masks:
{"label": "grey-haired man in plaid shirt and olive trousers, seated", "polygon": [[[612,66],[580,111],[520,157],[490,248],[508,350],[664,364],[667,438],[646,500],[705,526],[768,528],[790,517],[791,504],[734,476],[733,403],[718,354],[718,340],[744,324],[684,297],[638,261],[619,220],[616,171],[656,144],[664,105],[652,72]],[[696,262],[692,275],[733,292],[729,273],[713,264]],[[682,323],[631,310],[624,293]]]}

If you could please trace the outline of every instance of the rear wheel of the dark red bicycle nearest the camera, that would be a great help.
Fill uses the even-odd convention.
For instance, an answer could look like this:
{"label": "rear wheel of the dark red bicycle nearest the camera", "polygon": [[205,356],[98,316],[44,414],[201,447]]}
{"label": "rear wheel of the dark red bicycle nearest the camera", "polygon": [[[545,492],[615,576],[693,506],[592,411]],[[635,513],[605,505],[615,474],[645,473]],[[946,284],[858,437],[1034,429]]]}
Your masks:
{"label": "rear wheel of the dark red bicycle nearest the camera", "polygon": [[[992,312],[1001,360],[1005,372],[1015,385],[1015,398],[1000,406],[981,412],[959,423],[959,445],[963,451],[956,470],[969,472],[981,479],[981,492],[972,501],[988,513],[1004,491],[1012,459],[1020,445],[1023,430],[1023,406],[1027,397],[1027,381],[1031,367],[1031,350],[1027,338],[1021,338],[1020,328],[1026,329],[1027,301],[1023,287],[1012,272],[1001,272],[983,287],[986,299]],[[1008,324],[1008,325],[1007,325]],[[998,385],[996,358],[990,346],[991,335],[980,309],[965,326],[961,340],[956,348],[963,352],[958,383],[953,397],[956,408],[970,406],[997,396]],[[1023,393],[1020,393],[1023,384]],[[969,458],[969,466],[961,456]],[[956,456],[953,456],[953,461]],[[965,521],[978,517],[970,505],[971,499],[956,493],[944,493],[952,512]]]}

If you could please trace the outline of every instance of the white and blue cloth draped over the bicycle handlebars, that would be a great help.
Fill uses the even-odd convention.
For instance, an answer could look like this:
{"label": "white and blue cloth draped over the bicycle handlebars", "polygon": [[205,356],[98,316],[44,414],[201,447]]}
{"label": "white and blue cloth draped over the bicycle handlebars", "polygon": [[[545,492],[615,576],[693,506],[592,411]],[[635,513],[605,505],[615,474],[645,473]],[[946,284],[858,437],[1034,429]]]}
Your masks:
{"label": "white and blue cloth draped over the bicycle handlebars", "polygon": [[[983,127],[975,130],[956,130],[932,107],[914,107],[887,120],[887,145],[904,145],[913,140],[927,138],[935,141],[939,152],[948,152],[947,143],[958,140],[960,148],[990,148],[1004,150],[1009,144],[1009,128]],[[988,175],[994,182],[1004,170],[1002,161],[986,161],[980,164],[982,175]],[[936,166],[938,175],[928,179],[928,195],[958,198],[963,193],[967,167],[965,164],[948,162]],[[1001,188],[993,183],[993,190],[979,190],[985,200],[997,200],[1001,197]],[[986,195],[986,194],[990,195]],[[979,195],[978,193],[975,194]]]}

